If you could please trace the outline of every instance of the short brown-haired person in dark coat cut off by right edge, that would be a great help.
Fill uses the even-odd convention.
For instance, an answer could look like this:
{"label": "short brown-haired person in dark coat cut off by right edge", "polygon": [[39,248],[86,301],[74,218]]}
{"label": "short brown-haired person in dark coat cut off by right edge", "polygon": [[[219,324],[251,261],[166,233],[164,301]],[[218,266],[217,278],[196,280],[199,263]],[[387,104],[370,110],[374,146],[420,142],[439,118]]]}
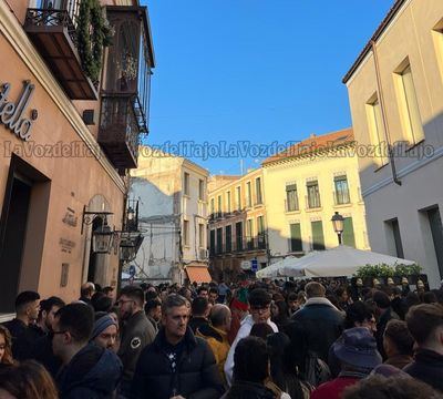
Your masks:
{"label": "short brown-haired person in dark coat cut off by right edge", "polygon": [[406,315],[415,339],[414,361],[403,371],[443,392],[443,307],[437,304],[413,306]]}

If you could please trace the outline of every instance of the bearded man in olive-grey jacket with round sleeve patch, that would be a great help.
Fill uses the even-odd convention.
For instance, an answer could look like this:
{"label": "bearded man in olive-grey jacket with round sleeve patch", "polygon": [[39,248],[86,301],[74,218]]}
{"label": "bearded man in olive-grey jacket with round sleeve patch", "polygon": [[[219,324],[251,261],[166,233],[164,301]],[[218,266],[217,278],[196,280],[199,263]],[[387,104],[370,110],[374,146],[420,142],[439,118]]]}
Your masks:
{"label": "bearded man in olive-grey jacket with round sleeve patch", "polygon": [[138,286],[126,286],[120,293],[117,304],[124,321],[119,357],[123,362],[121,393],[128,396],[138,356],[155,338],[155,329],[144,311],[145,295]]}

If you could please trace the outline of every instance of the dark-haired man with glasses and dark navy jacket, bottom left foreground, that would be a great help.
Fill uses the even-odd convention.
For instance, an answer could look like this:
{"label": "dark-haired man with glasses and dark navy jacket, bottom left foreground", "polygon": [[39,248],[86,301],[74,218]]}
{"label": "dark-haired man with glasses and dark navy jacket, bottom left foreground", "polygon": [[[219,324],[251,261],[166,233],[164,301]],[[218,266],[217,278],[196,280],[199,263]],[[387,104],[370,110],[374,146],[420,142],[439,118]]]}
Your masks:
{"label": "dark-haired man with glasses and dark navy jacket, bottom left foreground", "polygon": [[62,360],[56,376],[61,399],[113,398],[122,362],[111,350],[89,344],[94,314],[85,304],[70,304],[55,314],[52,347]]}

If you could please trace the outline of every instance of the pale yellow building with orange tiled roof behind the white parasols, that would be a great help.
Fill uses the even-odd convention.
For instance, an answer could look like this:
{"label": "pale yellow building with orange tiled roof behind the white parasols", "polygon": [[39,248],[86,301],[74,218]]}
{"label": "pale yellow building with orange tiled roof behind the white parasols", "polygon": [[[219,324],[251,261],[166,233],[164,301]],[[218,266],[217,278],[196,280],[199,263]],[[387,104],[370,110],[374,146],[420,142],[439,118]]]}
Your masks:
{"label": "pale yellow building with orange tiled roof behind the white parasols", "polygon": [[271,260],[338,245],[331,217],[344,217],[343,244],[368,249],[352,129],[311,135],[262,163]]}

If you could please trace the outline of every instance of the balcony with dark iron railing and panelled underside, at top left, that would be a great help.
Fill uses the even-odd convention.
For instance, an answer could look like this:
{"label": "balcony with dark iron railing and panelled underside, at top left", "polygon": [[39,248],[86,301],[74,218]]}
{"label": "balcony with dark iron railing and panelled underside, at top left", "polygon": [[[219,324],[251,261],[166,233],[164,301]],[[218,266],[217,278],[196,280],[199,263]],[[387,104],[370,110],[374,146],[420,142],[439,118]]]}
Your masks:
{"label": "balcony with dark iron railing and panelled underside, at top left", "polygon": [[28,9],[24,31],[71,100],[97,100],[78,53],[78,9],[72,1],[68,10],[52,9],[51,2],[43,1],[41,8]]}

